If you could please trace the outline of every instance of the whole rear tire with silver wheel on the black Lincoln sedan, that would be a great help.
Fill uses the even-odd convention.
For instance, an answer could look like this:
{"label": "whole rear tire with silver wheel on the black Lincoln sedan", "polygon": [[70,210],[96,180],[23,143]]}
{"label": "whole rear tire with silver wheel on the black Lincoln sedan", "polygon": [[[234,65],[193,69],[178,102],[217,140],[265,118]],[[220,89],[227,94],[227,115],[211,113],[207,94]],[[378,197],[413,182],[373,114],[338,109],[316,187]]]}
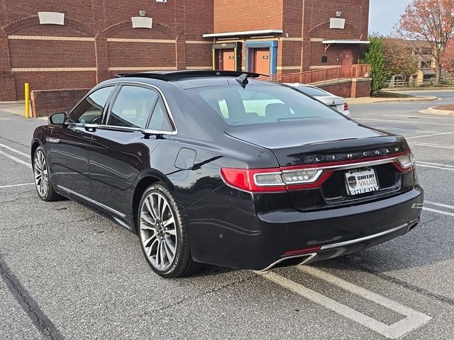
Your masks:
{"label": "whole rear tire with silver wheel on the black Lincoln sedan", "polygon": [[138,234],[145,259],[157,275],[179,278],[199,270],[200,263],[192,260],[184,218],[163,183],[155,183],[143,193]]}

